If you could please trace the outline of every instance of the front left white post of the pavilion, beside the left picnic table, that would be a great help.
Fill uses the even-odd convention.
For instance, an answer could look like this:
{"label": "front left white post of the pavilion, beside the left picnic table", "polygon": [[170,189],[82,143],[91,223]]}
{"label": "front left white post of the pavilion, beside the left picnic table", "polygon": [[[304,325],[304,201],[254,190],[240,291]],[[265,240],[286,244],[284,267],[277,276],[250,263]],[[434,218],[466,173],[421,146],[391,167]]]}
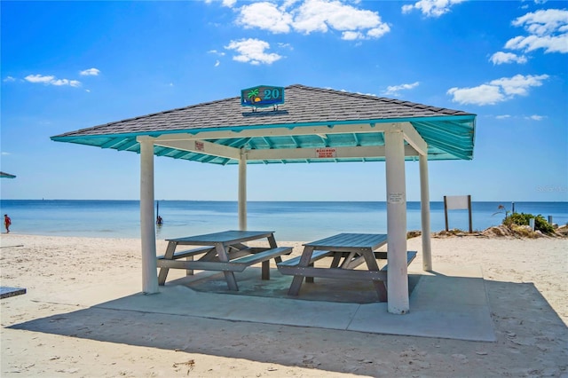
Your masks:
{"label": "front left white post of the pavilion, beside the left picnic table", "polygon": [[154,144],[152,138],[138,137],[140,143],[140,239],[142,241],[142,291],[158,293],[156,229],[154,219]]}

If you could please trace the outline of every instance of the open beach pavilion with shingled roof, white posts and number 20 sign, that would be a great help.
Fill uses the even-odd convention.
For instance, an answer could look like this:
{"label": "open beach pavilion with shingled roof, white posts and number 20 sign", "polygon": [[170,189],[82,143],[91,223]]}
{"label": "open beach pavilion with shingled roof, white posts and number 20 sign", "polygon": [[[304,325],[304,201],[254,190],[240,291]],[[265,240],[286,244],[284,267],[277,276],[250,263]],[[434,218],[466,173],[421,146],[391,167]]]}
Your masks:
{"label": "open beach pavilion with shingled roof, white posts and number 20 sign", "polygon": [[258,85],[240,97],[51,137],[140,154],[143,291],[158,292],[154,155],[239,165],[239,227],[247,229],[247,164],[385,161],[388,311],[409,311],[405,161],[420,164],[423,270],[431,271],[429,160],[473,158],[476,114],[392,98]]}

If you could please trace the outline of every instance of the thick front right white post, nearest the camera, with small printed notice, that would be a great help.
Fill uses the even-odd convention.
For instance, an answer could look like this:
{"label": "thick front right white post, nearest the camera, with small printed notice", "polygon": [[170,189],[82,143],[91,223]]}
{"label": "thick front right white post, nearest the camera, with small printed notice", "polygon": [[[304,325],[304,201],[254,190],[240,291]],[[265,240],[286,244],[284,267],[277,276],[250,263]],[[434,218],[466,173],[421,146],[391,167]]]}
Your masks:
{"label": "thick front right white post, nearest the camera, with small printed notice", "polygon": [[405,145],[401,130],[384,132],[387,179],[387,275],[388,311],[405,314],[408,300],[408,266],[406,264],[406,177]]}

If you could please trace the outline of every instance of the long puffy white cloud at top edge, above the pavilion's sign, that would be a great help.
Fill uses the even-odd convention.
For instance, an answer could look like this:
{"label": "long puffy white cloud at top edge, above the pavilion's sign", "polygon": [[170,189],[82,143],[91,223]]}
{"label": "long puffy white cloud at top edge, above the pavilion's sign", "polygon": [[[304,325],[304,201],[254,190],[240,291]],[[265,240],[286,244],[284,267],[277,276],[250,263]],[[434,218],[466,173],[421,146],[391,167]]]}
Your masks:
{"label": "long puffy white cloud at top edge, above the pavilion's sign", "polygon": [[237,22],[244,28],[260,28],[272,33],[293,29],[306,35],[337,30],[344,40],[375,39],[390,31],[377,12],[361,10],[336,0],[305,0],[244,5]]}

